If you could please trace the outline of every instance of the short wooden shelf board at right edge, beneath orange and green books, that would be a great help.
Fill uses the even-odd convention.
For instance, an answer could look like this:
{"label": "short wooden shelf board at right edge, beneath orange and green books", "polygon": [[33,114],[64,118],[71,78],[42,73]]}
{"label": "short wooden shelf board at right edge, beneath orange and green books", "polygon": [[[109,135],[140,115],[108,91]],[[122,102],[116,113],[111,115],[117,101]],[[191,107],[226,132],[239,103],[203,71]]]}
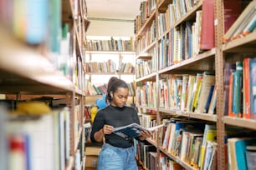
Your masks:
{"label": "short wooden shelf board at right edge, beneath orange and green books", "polygon": [[227,125],[256,130],[256,120],[253,119],[225,116],[223,122]]}

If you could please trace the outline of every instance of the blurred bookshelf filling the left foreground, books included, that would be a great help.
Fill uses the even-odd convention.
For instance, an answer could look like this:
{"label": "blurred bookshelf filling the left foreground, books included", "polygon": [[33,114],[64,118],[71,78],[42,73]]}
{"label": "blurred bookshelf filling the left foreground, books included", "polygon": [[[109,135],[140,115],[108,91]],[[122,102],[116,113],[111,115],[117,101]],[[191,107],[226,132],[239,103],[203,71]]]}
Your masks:
{"label": "blurred bookshelf filling the left foreground, books included", "polygon": [[[5,129],[1,133],[1,139],[3,139],[0,149],[1,169],[7,169],[13,163],[12,161],[25,161],[29,163],[26,166],[33,169],[38,169],[37,166],[52,169],[84,169],[82,164],[84,162],[84,66],[82,63],[84,36],[90,22],[86,19],[87,14],[82,15],[81,12],[84,12],[86,2],[77,0],[44,3],[44,7],[50,7],[47,11],[53,12],[54,15],[54,18],[47,18],[50,21],[44,25],[44,28],[49,28],[49,30],[45,29],[49,33],[48,37],[51,37],[49,39],[44,38],[32,43],[26,38],[19,37],[17,32],[13,32],[13,28],[10,28],[14,25],[13,20],[7,23],[5,18],[0,18],[0,35],[2,36],[0,41],[3,49],[0,52],[0,93],[4,98],[1,99],[1,117],[6,120],[1,121]],[[16,2],[9,3],[10,7],[15,5],[17,6]],[[20,10],[26,7],[25,2],[19,5]],[[3,9],[2,6],[0,8]],[[12,10],[2,11],[4,15],[13,12]],[[49,13],[43,14],[48,16]],[[21,18],[16,19],[20,21]],[[26,17],[22,19],[31,22]],[[38,18],[39,23],[42,22],[40,19],[42,18]],[[53,22],[54,25],[51,25]],[[61,32],[58,31],[55,34],[51,30],[54,27],[61,30],[64,24],[69,29],[63,28]],[[69,39],[62,37],[62,32],[69,34]],[[67,52],[62,51],[62,45],[68,49]],[[53,105],[57,101],[62,107],[57,108]],[[27,111],[18,111],[19,103],[23,102],[26,104],[23,109]],[[41,107],[33,107],[28,103],[38,103]],[[41,105],[43,103],[44,105]],[[44,111],[44,114],[41,111],[35,115],[42,106],[49,108],[49,111]],[[9,113],[13,112],[11,109],[17,109],[16,112],[22,115],[11,116]],[[32,110],[28,112],[29,109]],[[10,143],[25,144],[30,152],[22,150],[19,157],[12,158],[12,155],[17,156],[18,150],[6,151],[4,148]],[[6,158],[5,162],[2,155]],[[41,158],[38,158],[38,155]],[[19,163],[22,164],[16,165],[20,166],[16,168],[26,169],[22,167],[25,165],[24,162]]]}

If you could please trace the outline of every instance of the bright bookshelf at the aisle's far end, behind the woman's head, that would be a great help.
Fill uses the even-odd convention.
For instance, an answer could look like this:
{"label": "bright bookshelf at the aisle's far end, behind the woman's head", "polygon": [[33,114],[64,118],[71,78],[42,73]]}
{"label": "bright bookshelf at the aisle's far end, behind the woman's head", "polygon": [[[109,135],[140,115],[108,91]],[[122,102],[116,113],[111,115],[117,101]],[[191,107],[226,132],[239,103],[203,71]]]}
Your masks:
{"label": "bright bookshelf at the aisle's far end, behind the woman's head", "polygon": [[[134,84],[135,52],[132,37],[87,37],[86,47],[84,67],[88,103],[95,103],[95,99],[105,93],[110,77],[119,77]],[[100,90],[94,92],[91,86]],[[132,90],[130,96],[133,94]]]}

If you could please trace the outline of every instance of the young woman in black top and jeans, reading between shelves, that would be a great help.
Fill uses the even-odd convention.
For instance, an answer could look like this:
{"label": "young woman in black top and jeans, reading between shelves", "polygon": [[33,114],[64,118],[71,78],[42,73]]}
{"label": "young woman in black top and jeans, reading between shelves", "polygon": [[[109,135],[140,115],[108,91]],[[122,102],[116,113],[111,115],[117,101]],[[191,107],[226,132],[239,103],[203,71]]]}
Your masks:
{"label": "young woman in black top and jeans, reading between shelves", "polygon": [[[98,170],[136,170],[137,164],[133,148],[133,138],[122,138],[113,132],[114,128],[133,122],[140,123],[134,107],[125,106],[129,89],[127,83],[119,78],[110,78],[106,94],[107,107],[99,110],[93,123],[90,139],[103,142],[98,158]],[[138,140],[151,137],[149,132],[141,132]]]}

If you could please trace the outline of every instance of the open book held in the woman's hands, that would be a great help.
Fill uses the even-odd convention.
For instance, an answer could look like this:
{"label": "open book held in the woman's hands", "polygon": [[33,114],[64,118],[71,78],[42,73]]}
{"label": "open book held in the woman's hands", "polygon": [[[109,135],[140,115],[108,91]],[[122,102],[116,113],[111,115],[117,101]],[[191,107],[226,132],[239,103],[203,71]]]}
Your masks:
{"label": "open book held in the woman's hands", "polygon": [[158,125],[156,127],[151,127],[151,128],[144,128],[141,127],[138,123],[134,122],[129,125],[119,127],[119,128],[114,128],[113,133],[119,135],[120,137],[123,138],[132,138],[132,137],[138,137],[141,135],[141,131],[154,131],[157,128],[163,127],[164,124]]}

